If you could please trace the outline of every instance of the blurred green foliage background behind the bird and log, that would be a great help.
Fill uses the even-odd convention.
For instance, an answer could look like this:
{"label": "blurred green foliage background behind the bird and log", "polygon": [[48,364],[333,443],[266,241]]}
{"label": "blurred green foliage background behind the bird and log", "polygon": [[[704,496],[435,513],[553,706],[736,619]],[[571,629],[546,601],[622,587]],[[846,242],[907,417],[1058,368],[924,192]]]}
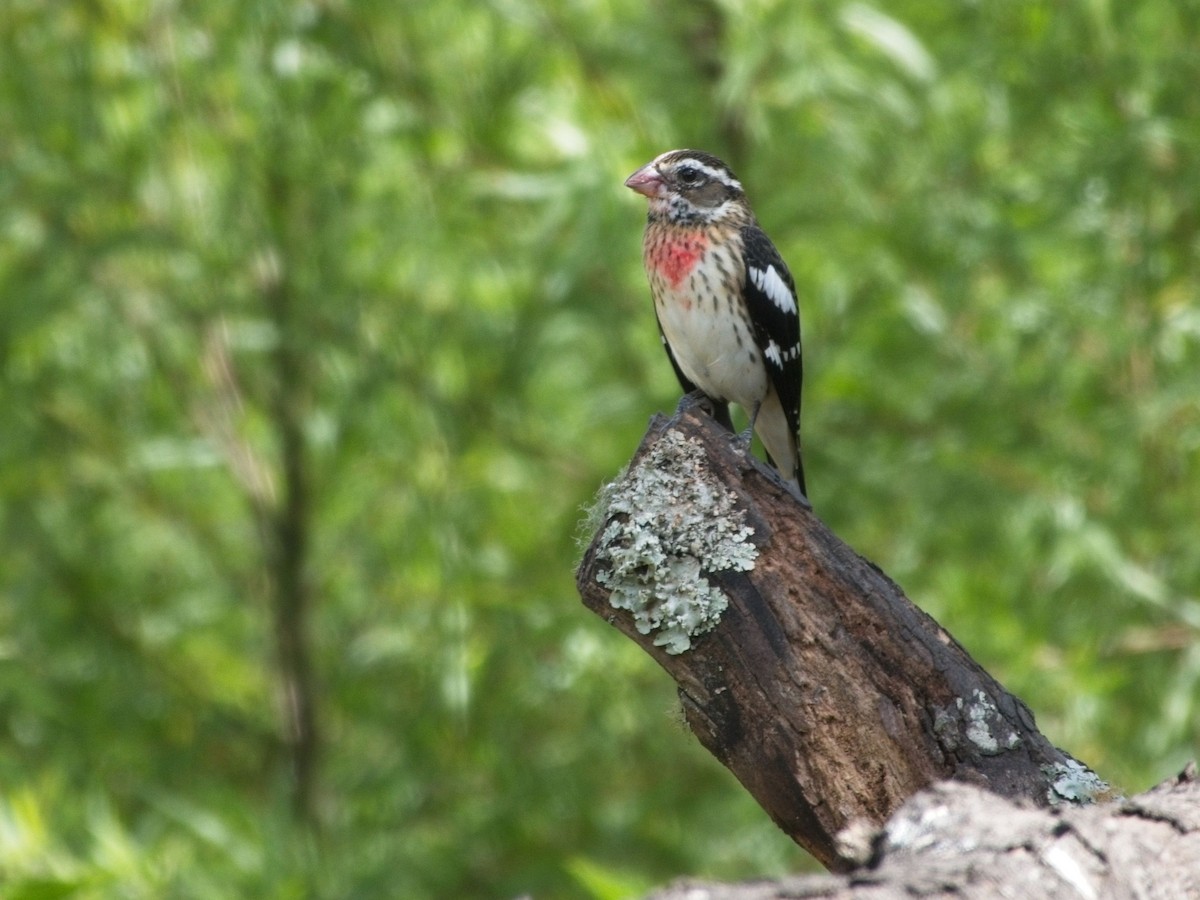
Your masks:
{"label": "blurred green foliage background behind the bird and log", "polygon": [[0,5],[0,895],[812,865],[574,589],[727,158],[818,514],[1126,791],[1200,739],[1195,0]]}

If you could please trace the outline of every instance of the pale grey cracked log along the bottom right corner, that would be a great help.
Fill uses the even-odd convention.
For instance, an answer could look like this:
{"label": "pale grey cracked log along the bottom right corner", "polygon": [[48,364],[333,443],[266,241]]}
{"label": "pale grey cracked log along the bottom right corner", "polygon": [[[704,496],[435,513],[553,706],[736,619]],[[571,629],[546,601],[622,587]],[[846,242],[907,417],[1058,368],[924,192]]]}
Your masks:
{"label": "pale grey cracked log along the bottom right corner", "polygon": [[1200,896],[1194,766],[1132,800],[1087,809],[1034,809],[943,782],[917,794],[866,839],[872,858],[851,875],[682,881],[652,900]]}

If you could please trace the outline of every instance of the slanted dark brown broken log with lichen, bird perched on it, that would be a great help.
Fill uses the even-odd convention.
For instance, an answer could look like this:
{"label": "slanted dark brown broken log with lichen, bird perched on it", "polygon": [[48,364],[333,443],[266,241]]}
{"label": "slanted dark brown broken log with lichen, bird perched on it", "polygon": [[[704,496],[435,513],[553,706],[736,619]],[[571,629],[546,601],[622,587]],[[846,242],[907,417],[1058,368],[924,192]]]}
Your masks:
{"label": "slanted dark brown broken log with lichen, bird perched on it", "polygon": [[862,863],[854,835],[938,781],[1037,806],[1105,794],[695,401],[650,422],[596,512],[584,604],[674,678],[701,743],[826,866]]}

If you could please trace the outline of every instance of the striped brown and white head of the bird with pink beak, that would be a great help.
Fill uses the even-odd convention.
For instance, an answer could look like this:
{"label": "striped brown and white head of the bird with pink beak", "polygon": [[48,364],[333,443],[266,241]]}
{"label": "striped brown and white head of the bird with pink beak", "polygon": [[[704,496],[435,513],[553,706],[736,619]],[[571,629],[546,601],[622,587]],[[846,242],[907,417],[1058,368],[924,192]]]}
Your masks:
{"label": "striped brown and white head of the bird with pink beak", "polygon": [[625,187],[650,202],[650,217],[703,224],[745,205],[742,182],[719,158],[701,150],[670,150],[628,179]]}

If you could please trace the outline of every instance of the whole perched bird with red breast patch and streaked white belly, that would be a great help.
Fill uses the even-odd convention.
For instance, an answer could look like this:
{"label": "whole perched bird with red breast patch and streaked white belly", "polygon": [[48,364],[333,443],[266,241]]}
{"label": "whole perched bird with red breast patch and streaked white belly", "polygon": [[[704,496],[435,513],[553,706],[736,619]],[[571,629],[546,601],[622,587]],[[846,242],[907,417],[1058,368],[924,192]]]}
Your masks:
{"label": "whole perched bird with red breast patch and streaked white belly", "polygon": [[796,284],[742,182],[712,154],[671,150],[625,186],[650,202],[642,260],[679,384],[708,395],[731,430],[728,403],[745,409],[772,463],[808,496]]}

